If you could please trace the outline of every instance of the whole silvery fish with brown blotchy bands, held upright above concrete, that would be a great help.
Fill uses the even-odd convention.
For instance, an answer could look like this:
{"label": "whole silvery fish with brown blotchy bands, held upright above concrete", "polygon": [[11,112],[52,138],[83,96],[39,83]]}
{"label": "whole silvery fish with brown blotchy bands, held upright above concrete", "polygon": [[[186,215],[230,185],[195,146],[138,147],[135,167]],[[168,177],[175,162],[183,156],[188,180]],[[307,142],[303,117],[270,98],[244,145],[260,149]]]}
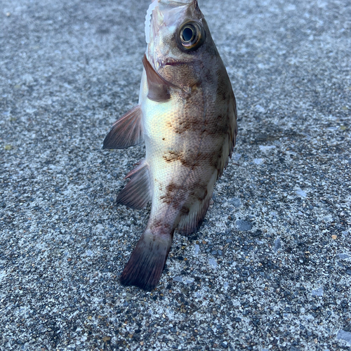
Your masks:
{"label": "whole silvery fish with brown blotchy bands, held upright above concrete", "polygon": [[138,105],[112,126],[103,148],[145,143],[117,204],[150,218],[121,273],[125,286],[159,283],[173,234],[197,231],[237,138],[237,104],[197,0],[153,0]]}

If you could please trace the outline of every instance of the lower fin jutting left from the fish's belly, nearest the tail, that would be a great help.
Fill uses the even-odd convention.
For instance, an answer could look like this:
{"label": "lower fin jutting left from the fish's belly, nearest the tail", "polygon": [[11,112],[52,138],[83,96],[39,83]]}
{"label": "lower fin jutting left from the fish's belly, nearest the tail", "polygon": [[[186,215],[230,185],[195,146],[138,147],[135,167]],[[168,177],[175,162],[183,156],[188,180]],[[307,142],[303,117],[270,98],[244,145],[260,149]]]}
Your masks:
{"label": "lower fin jutting left from the fish's belly, nearest the tail", "polygon": [[124,189],[117,196],[117,204],[141,209],[151,200],[149,165],[145,159],[138,167],[130,171],[126,178],[131,178]]}

